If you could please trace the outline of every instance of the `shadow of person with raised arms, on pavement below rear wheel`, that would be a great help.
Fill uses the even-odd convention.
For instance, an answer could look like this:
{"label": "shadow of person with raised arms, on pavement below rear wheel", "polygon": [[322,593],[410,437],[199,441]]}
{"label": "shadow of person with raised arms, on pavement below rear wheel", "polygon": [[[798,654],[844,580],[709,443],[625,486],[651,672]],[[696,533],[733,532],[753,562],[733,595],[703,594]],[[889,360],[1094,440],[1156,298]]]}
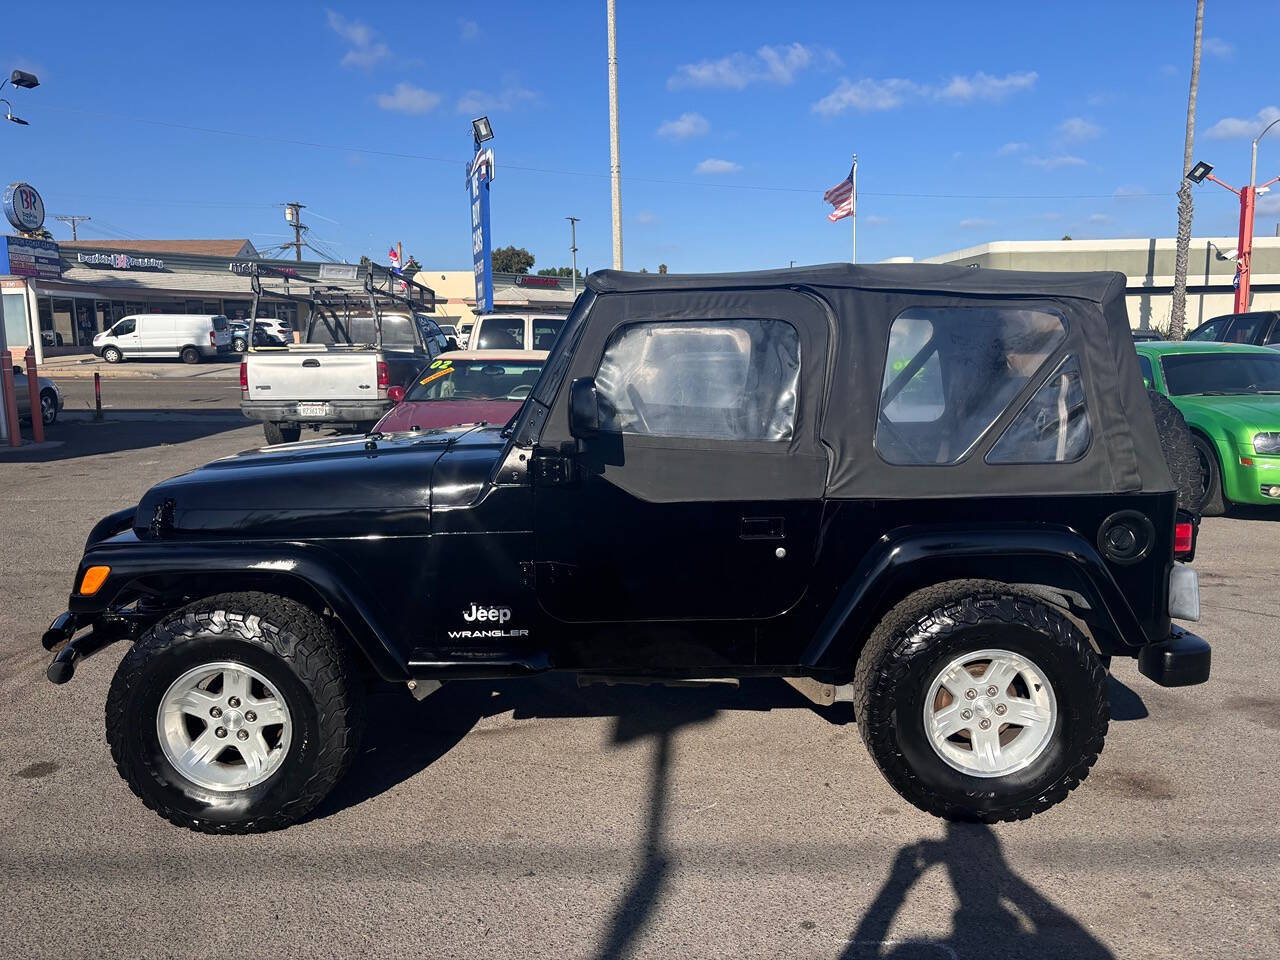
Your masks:
{"label": "shadow of person with raised arms, on pavement below rear wheel", "polygon": [[[893,920],[931,867],[947,872],[959,906],[943,938],[893,940]],[[899,850],[888,878],[849,938],[842,960],[1070,957],[1115,955],[1076,920],[1014,873],[1000,840],[980,823],[948,823],[943,840]]]}

